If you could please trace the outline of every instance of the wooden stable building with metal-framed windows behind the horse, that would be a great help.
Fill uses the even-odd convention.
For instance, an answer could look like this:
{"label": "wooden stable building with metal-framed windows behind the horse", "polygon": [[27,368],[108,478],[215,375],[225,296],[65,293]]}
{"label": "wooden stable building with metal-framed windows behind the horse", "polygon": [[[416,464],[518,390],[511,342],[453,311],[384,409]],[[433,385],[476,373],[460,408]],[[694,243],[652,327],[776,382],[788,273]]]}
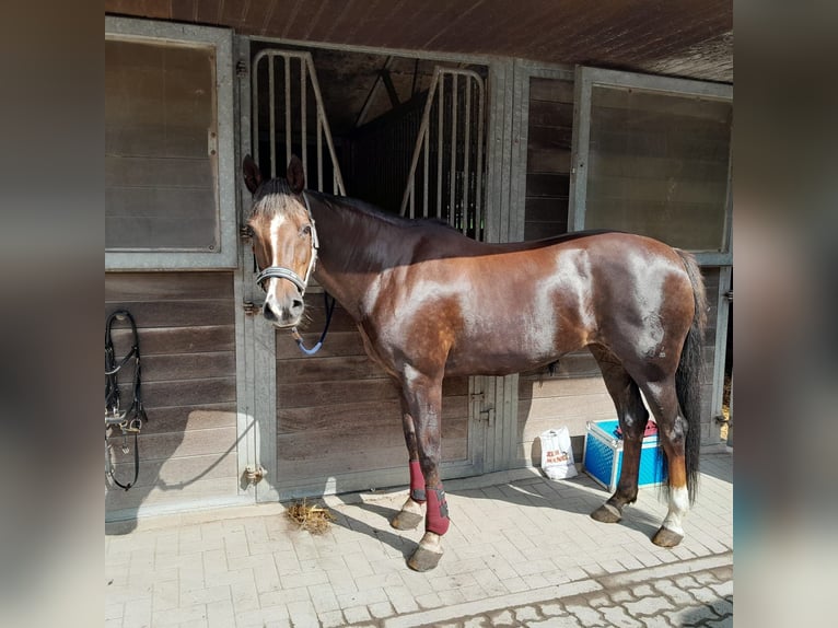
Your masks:
{"label": "wooden stable building with metal-framed windows behind the horse", "polygon": [[[106,0],[105,315],[137,321],[149,417],[107,519],[407,485],[396,389],[348,315],[314,357],[260,316],[246,154],[487,242],[605,228],[695,253],[701,440],[723,447],[732,4],[633,4]],[[311,342],[317,287],[306,309]],[[443,394],[443,479],[538,465],[558,426],[581,461],[586,423],[615,415],[586,351]]]}

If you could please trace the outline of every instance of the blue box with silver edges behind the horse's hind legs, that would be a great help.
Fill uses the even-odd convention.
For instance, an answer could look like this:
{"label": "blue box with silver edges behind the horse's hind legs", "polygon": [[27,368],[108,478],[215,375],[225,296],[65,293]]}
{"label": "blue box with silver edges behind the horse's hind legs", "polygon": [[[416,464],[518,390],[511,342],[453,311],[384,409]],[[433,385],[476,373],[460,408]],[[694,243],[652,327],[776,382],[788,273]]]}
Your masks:
{"label": "blue box with silver edges behind the horse's hind legs", "polygon": [[[603,487],[614,492],[622,468],[622,437],[617,435],[619,421],[589,421],[582,467]],[[659,486],[666,481],[666,467],[661,467],[663,451],[657,434],[643,439],[640,451],[638,487]]]}

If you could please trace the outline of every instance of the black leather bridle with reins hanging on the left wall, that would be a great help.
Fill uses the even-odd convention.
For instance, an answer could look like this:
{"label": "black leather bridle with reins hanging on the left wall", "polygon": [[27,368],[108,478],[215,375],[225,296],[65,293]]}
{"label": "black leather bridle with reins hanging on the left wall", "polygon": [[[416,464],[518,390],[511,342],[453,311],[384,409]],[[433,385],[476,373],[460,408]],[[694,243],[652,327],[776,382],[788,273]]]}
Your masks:
{"label": "black leather bridle with reins hanging on the left wall", "polygon": [[[132,342],[131,350],[118,363],[114,351],[114,342],[110,337],[110,329],[114,321],[125,321],[131,325]],[[128,361],[133,358],[133,374],[131,379],[131,405],[123,410],[119,399],[119,371]],[[113,312],[105,323],[105,464],[107,474],[114,480],[116,486],[128,490],[137,484],[137,477],[140,475],[140,445],[138,437],[142,429],[142,421],[148,421],[146,409],[142,406],[142,396],[140,391],[140,342],[137,334],[137,324],[133,316],[127,310],[117,310]],[[123,432],[123,453],[128,453],[128,434],[133,434],[133,479],[127,485],[116,479],[114,466],[110,463],[107,446],[107,428],[118,427]]]}

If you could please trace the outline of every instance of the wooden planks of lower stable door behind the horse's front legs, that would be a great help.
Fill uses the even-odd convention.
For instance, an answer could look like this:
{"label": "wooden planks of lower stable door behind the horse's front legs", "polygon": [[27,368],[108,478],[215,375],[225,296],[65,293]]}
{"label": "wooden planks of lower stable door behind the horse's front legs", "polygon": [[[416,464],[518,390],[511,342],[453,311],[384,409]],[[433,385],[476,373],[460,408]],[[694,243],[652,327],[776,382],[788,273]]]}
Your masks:
{"label": "wooden planks of lower stable door behind the horse's front legs", "polygon": [[[311,347],[325,323],[322,294],[306,295]],[[468,455],[468,379],[443,383],[443,461]],[[337,479],[340,491],[370,488],[370,472],[407,470],[398,394],[364,353],[354,323],[338,306],[323,349],[303,356],[277,334],[277,461],[280,491]],[[365,475],[366,474],[366,475]],[[405,477],[407,477],[405,475]]]}

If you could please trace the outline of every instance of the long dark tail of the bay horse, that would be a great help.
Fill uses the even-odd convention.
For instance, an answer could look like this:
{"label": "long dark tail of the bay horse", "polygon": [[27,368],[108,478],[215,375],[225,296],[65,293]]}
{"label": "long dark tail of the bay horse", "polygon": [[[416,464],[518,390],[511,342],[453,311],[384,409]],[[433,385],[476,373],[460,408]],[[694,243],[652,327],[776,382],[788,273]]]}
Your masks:
{"label": "long dark tail of the bay horse", "polygon": [[696,258],[689,253],[677,249],[676,252],[684,261],[684,267],[692,286],[692,299],[695,313],[692,323],[684,339],[684,348],[680,352],[678,370],[675,372],[675,391],[680,405],[680,412],[687,420],[687,438],[684,444],[685,465],[687,472],[687,491],[689,501],[696,499],[698,488],[698,460],[701,447],[701,371],[703,359],[701,347],[707,325],[707,294],[701,269]]}

